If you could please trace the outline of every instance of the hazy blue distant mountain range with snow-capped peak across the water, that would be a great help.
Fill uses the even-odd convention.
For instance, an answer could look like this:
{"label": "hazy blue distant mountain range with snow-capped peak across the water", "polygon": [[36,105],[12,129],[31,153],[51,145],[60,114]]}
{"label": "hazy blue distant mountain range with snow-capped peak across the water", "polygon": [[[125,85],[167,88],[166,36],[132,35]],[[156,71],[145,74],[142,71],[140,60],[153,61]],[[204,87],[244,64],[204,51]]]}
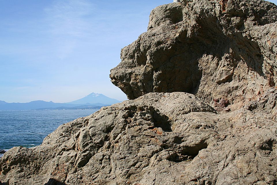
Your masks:
{"label": "hazy blue distant mountain range with snow-capped peak across the water", "polygon": [[44,110],[44,109],[84,109],[100,108],[119,103],[116,99],[109,98],[100,93],[93,92],[84,98],[68,103],[54,103],[53,101],[31,101],[28,103],[7,103],[0,101],[0,110]]}

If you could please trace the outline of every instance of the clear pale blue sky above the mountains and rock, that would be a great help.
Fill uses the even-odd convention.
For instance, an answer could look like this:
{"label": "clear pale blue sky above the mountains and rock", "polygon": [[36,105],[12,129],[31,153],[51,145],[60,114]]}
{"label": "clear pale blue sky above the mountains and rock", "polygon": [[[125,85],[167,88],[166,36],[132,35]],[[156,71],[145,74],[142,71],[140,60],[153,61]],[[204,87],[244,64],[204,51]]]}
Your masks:
{"label": "clear pale blue sky above the mountains and rock", "polygon": [[[127,99],[109,78],[121,48],[172,0],[0,0],[0,100]],[[277,3],[276,0],[272,1]]]}

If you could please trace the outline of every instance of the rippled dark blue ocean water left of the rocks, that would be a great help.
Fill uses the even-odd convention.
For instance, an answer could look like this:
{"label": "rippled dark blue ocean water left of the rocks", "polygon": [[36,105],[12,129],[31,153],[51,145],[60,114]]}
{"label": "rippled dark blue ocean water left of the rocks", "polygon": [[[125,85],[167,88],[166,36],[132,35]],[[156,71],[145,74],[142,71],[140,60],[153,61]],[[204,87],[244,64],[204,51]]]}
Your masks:
{"label": "rippled dark blue ocean water left of the rocks", "polygon": [[0,150],[40,145],[59,125],[97,110],[0,111]]}

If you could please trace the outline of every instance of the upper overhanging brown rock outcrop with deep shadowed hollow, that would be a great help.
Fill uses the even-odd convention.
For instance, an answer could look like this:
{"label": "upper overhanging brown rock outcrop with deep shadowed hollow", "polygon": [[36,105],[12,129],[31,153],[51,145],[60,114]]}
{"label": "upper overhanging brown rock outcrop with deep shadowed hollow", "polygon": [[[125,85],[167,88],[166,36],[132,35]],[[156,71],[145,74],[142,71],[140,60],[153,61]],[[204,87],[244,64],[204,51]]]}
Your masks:
{"label": "upper overhanging brown rock outcrop with deep shadowed hollow", "polygon": [[236,110],[277,82],[277,7],[267,1],[181,1],[151,12],[148,31],[121,50],[113,84],[135,99],[188,92]]}

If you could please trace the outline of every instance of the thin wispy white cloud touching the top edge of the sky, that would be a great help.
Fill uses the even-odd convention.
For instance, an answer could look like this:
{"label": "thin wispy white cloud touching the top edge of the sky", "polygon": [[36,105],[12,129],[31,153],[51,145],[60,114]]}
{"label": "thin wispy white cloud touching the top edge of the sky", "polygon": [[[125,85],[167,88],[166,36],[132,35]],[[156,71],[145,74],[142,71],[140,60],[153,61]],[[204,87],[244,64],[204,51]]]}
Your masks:
{"label": "thin wispy white cloud touching the top edge of the sky", "polygon": [[74,51],[78,40],[90,34],[92,25],[87,17],[93,13],[93,4],[86,0],[57,0],[44,12],[58,56],[66,58]]}

